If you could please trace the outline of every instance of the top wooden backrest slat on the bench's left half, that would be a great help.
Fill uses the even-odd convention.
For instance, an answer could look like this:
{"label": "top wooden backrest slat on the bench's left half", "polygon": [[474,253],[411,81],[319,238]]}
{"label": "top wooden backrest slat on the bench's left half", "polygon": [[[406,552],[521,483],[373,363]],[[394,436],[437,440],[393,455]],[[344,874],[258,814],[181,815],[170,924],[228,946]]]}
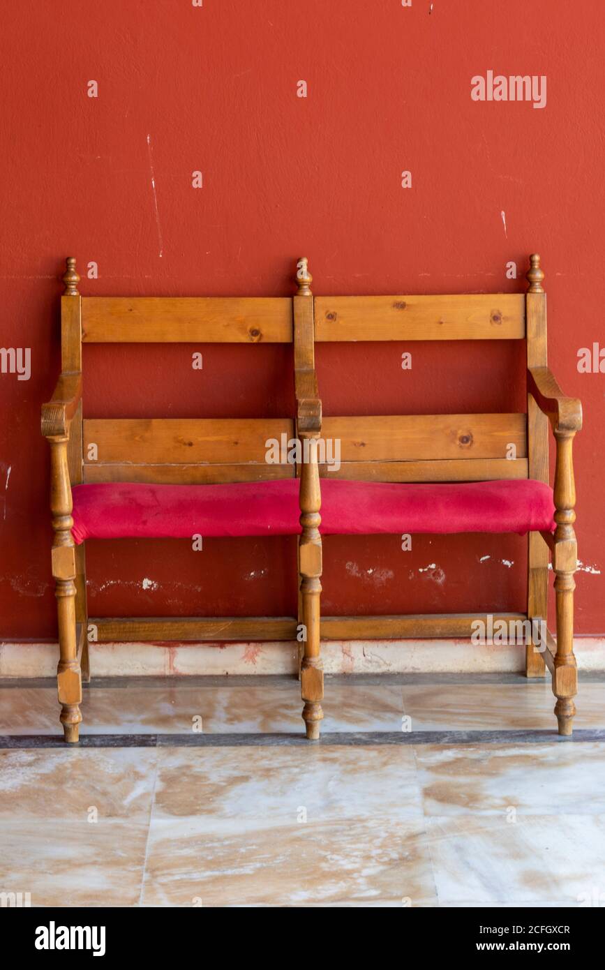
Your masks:
{"label": "top wooden backrest slat on the bench's left half", "polygon": [[84,343],[291,343],[287,297],[82,297]]}

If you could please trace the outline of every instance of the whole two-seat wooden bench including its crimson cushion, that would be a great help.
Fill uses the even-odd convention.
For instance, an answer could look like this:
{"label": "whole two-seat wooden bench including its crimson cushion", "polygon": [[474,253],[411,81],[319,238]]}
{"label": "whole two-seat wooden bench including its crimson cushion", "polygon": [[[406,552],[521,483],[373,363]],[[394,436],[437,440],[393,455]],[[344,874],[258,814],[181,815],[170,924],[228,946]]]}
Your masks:
{"label": "whole two-seat wooden bench including its crimson cushion", "polygon": [[[558,730],[575,714],[573,574],[577,563],[572,440],[581,406],[546,362],[546,296],[539,256],[526,294],[313,297],[307,261],[292,298],[80,297],[67,260],[62,373],[43,405],[50,444],[52,574],[56,584],[60,721],[79,740],[87,630],[111,641],[302,641],[306,736],[319,737],[323,639],[469,635],[485,614],[321,617],[322,535],[528,533],[527,609],[496,614],[543,629],[549,555],[557,642],[525,638],[527,676],[553,675]],[[326,417],[317,341],[525,339],[527,413]],[[283,419],[86,419],[85,342],[293,344],[296,415]],[[250,353],[254,350],[251,349]],[[548,484],[548,425],[557,441]],[[275,442],[288,457],[275,460]],[[338,454],[337,463],[334,455]],[[280,453],[281,454],[281,453]],[[84,542],[130,537],[298,535],[298,617],[89,618]]]}

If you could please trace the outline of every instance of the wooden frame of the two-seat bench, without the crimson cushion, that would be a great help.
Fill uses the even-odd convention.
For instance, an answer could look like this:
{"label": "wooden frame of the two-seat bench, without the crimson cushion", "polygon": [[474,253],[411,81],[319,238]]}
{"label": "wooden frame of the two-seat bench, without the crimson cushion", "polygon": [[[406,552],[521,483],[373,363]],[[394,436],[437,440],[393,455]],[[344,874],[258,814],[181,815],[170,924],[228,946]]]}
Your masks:
{"label": "wooden frame of the two-seat bench, without the crimson cushion", "polygon": [[[42,408],[42,434],[50,445],[50,509],[54,533],[52,575],[57,598],[60,722],[65,740],[79,740],[81,681],[90,679],[88,631],[96,642],[287,640],[300,644],[300,679],[306,736],[319,738],[323,718],[320,635],[326,640],[468,636],[485,614],[321,617],[321,477],[317,446],[339,437],[344,460],[336,477],[372,481],[468,481],[529,477],[548,482],[548,426],[557,443],[555,520],[551,533],[529,533],[525,613],[496,619],[546,621],[549,554],[555,572],[557,643],[525,645],[527,677],[552,673],[559,734],[572,731],[577,692],[573,654],[573,591],[577,566],[572,443],[582,407],[565,397],[547,367],[546,294],[540,257],[530,257],[522,294],[419,297],[315,297],[307,260],[297,266],[298,292],[277,298],[80,297],[76,260],[67,260],[61,298],[62,371]],[[433,415],[402,418],[326,418],[322,421],[314,364],[315,341],[410,339],[526,339],[527,414]],[[293,342],[297,402],[294,420],[85,421],[82,419],[81,344],[95,342]],[[470,417],[474,423],[468,424]],[[472,428],[471,431],[467,430]],[[237,434],[235,434],[237,432]],[[296,435],[308,460],[298,467],[268,465],[265,436]],[[360,440],[360,436],[365,439]],[[375,443],[368,449],[366,438]],[[193,440],[191,440],[193,438]],[[87,445],[100,439],[104,461],[88,462]],[[186,439],[186,440],[185,440]],[[513,440],[509,461],[502,442]],[[145,460],[132,449],[144,443]],[[436,444],[435,444],[436,441]],[[410,448],[409,442],[414,444]],[[195,448],[191,445],[195,444]],[[359,460],[359,445],[365,450]],[[186,445],[186,447],[185,447]],[[236,447],[236,445],[238,447]],[[414,454],[410,454],[410,451]],[[193,452],[193,454],[192,454]],[[208,457],[209,452],[209,457]],[[184,457],[186,454],[186,458]],[[320,451],[321,454],[321,451]],[[128,456],[128,461],[124,458]],[[401,460],[401,455],[405,456]],[[183,457],[181,457],[183,456]],[[469,461],[470,459],[470,461]],[[82,481],[208,483],[300,475],[298,617],[89,618],[84,545],[75,545],[72,485]]]}

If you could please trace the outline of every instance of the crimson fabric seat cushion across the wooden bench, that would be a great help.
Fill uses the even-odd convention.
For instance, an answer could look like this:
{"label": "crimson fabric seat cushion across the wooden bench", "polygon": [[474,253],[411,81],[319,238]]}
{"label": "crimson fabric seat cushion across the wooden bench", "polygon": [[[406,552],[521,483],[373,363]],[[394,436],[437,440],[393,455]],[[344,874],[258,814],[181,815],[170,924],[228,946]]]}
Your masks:
{"label": "crimson fabric seat cushion across the wooden bench", "polygon": [[[322,478],[321,532],[526,533],[553,531],[553,491],[542,482],[384,484]],[[296,535],[299,482],[226,485],[76,485],[77,543],[127,536]]]}

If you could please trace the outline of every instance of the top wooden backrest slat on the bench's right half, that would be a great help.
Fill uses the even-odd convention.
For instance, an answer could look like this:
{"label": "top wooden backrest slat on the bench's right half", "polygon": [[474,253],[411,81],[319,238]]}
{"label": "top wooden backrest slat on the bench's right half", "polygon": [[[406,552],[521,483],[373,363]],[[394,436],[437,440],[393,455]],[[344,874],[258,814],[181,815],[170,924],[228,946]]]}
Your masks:
{"label": "top wooden backrest slat on the bench's right half", "polygon": [[503,340],[525,337],[525,296],[315,297],[316,340]]}

